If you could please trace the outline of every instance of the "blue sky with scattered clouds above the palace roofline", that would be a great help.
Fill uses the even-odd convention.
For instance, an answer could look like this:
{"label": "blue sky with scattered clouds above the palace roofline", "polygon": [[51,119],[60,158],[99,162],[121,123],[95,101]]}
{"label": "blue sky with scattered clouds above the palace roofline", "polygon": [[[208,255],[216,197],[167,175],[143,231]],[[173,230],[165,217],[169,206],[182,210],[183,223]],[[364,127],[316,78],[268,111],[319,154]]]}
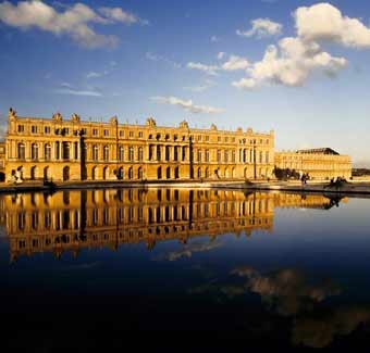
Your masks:
{"label": "blue sky with scattered clouds above the palace roofline", "polygon": [[185,118],[370,166],[369,1],[0,0],[0,46],[2,124]]}

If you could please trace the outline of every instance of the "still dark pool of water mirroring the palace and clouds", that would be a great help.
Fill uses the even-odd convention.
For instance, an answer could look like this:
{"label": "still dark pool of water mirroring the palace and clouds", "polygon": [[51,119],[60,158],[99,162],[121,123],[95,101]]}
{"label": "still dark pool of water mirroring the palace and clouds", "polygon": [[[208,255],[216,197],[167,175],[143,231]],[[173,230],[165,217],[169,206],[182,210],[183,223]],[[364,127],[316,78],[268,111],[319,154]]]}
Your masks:
{"label": "still dark pool of water mirroring the palace and clouds", "polygon": [[5,346],[103,351],[137,333],[369,343],[369,211],[366,199],[223,190],[0,196]]}

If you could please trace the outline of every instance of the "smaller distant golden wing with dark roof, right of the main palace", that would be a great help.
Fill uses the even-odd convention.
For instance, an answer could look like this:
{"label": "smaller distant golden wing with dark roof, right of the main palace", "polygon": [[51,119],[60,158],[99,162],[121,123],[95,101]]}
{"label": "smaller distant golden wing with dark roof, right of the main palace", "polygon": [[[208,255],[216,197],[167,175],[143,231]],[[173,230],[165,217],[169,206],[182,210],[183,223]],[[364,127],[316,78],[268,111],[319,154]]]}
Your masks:
{"label": "smaller distant golden wing with dark roof, right of the main palace", "polygon": [[314,179],[333,177],[349,178],[351,162],[348,155],[340,155],[332,149],[299,150],[295,152],[275,152],[275,166],[281,169],[295,169],[308,173]]}

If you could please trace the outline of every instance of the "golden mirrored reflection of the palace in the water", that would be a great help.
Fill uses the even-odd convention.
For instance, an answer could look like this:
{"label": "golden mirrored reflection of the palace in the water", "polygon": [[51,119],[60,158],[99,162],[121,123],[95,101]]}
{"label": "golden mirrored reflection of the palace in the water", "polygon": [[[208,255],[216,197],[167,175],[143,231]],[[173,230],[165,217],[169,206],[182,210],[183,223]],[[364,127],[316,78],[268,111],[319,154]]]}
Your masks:
{"label": "golden mirrored reflection of the palace in the water", "polygon": [[[2,196],[1,224],[10,242],[10,260],[39,252],[74,256],[84,248],[158,241],[224,234],[251,236],[271,232],[275,207],[328,210],[346,199],[288,193],[250,193],[187,189],[108,189],[61,191],[54,194]],[[207,247],[219,247],[219,243]],[[168,260],[190,256],[197,245],[171,253]],[[205,245],[201,245],[205,247]]]}

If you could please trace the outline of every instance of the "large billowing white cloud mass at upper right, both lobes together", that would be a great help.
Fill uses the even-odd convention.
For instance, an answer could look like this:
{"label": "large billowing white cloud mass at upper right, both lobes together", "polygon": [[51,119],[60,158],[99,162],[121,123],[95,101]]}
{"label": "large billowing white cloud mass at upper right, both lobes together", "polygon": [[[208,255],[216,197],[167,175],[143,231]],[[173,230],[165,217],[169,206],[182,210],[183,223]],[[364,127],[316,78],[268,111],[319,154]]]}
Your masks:
{"label": "large billowing white cloud mass at upper right, both lobes together", "polygon": [[298,8],[294,14],[296,37],[269,46],[261,61],[247,67],[247,77],[233,81],[234,87],[255,89],[263,84],[303,86],[314,72],[335,76],[348,64],[343,56],[324,51],[324,42],[344,47],[370,48],[370,29],[359,20],[343,16],[329,3]]}

